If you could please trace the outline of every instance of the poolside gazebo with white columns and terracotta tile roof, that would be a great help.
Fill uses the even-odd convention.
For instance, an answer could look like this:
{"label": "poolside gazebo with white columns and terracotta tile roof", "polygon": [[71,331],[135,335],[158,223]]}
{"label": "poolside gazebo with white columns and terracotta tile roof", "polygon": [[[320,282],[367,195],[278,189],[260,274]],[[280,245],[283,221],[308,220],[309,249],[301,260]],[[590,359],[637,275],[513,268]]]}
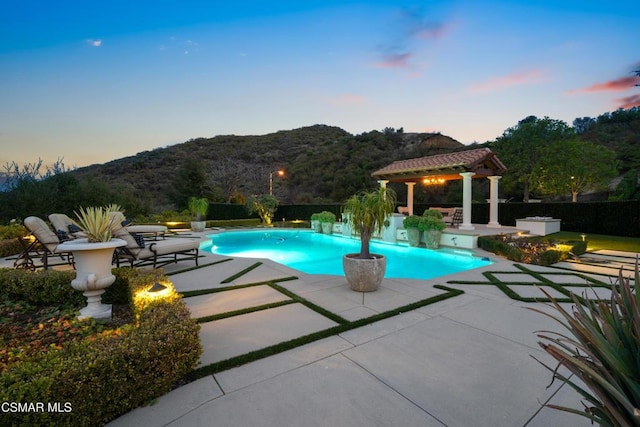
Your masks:
{"label": "poolside gazebo with white columns and terracotta tile roof", "polygon": [[463,180],[462,230],[473,230],[471,224],[471,179],[488,178],[491,183],[491,198],[488,227],[499,228],[498,180],[507,170],[505,165],[488,148],[438,154],[416,159],[398,160],[375,171],[372,176],[384,186],[387,182],[404,182],[407,185],[407,207],[413,214],[413,187],[416,182],[444,183]]}

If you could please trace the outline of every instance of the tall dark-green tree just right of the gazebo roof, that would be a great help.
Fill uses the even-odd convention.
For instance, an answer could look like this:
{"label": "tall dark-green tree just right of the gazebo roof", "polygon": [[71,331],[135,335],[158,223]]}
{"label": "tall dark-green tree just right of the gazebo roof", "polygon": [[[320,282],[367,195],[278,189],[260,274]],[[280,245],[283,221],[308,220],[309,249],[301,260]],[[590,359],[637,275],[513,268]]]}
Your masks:
{"label": "tall dark-green tree just right of the gazebo roof", "polygon": [[531,186],[536,183],[547,147],[574,136],[575,132],[565,122],[549,117],[538,119],[536,116],[526,117],[504,131],[490,147],[507,166],[503,184],[505,189],[522,184],[523,199],[528,202]]}

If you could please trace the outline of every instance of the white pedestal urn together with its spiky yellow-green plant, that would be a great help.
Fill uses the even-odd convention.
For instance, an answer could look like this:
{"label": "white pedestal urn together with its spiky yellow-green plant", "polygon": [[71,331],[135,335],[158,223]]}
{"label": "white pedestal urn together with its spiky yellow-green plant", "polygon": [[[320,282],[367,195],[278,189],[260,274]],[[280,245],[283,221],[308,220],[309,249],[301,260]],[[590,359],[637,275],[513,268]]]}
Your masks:
{"label": "white pedestal urn together with its spiky yellow-green plant", "polygon": [[63,242],[59,246],[73,254],[76,277],[71,286],[82,291],[87,298],[87,306],[80,310],[79,319],[111,318],[111,306],[102,304],[102,294],[116,279],[111,273],[113,253],[117,247],[127,244],[122,239],[112,238],[113,230],[122,227],[117,219],[124,217],[114,215],[119,212],[117,205],[80,208],[76,212],[77,223],[86,237]]}

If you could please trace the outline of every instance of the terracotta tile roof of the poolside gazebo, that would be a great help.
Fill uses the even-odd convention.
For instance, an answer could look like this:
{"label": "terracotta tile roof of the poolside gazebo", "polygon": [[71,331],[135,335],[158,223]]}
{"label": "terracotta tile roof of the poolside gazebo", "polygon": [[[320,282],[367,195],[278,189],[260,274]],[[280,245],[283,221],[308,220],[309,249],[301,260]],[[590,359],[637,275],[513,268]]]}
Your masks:
{"label": "terracotta tile roof of the poolside gazebo", "polygon": [[398,160],[375,171],[377,179],[409,179],[428,175],[476,172],[481,176],[502,175],[506,167],[488,148]]}

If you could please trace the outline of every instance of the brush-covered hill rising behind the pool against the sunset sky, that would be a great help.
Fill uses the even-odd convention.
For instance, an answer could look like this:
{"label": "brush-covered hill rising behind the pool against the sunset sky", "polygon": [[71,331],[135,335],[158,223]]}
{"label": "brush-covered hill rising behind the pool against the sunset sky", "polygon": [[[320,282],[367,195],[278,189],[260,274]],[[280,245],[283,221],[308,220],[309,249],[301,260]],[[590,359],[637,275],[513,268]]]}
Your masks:
{"label": "brush-covered hill rising behind the pool against the sunset sky", "polygon": [[342,202],[375,185],[371,172],[394,160],[463,149],[441,134],[386,128],[352,135],[315,125],[260,136],[221,135],[138,153],[77,169],[81,179],[133,192],[153,210],[181,208],[188,193],[211,201],[242,202],[269,191],[282,203]]}

